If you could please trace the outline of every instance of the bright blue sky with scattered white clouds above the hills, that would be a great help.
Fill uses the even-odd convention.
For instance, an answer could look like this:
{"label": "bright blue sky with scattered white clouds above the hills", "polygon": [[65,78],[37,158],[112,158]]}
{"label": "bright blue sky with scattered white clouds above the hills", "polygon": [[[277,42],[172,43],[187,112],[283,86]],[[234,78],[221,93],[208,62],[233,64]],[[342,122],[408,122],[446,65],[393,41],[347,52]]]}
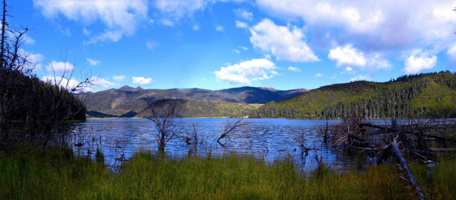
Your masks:
{"label": "bright blue sky with scattered white clouds above the hills", "polygon": [[[46,79],[120,87],[317,88],[456,71],[455,0],[10,0]],[[66,59],[62,59],[65,57]],[[66,62],[65,62],[66,61]],[[77,81],[78,76],[73,77]]]}

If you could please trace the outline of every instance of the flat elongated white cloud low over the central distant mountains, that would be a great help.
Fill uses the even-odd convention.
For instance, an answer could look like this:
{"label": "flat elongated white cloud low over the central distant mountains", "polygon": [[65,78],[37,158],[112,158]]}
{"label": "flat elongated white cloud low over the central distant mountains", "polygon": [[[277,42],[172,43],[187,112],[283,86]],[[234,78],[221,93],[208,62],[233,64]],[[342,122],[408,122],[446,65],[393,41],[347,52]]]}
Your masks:
{"label": "flat elongated white cloud low over the central distant mountains", "polygon": [[252,59],[239,64],[221,67],[215,71],[218,81],[232,84],[251,84],[254,80],[266,80],[278,75],[276,65],[268,59]]}

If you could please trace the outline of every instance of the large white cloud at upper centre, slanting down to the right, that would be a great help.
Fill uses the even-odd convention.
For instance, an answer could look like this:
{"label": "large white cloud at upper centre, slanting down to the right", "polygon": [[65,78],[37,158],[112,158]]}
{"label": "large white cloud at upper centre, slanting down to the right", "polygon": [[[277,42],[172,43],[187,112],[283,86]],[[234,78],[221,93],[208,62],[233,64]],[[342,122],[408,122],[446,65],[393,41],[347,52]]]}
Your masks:
{"label": "large white cloud at upper centre, slanting down to the right", "polygon": [[250,42],[255,48],[276,56],[277,60],[293,62],[319,61],[307,45],[304,34],[298,27],[278,26],[269,19],[264,19],[250,29]]}

